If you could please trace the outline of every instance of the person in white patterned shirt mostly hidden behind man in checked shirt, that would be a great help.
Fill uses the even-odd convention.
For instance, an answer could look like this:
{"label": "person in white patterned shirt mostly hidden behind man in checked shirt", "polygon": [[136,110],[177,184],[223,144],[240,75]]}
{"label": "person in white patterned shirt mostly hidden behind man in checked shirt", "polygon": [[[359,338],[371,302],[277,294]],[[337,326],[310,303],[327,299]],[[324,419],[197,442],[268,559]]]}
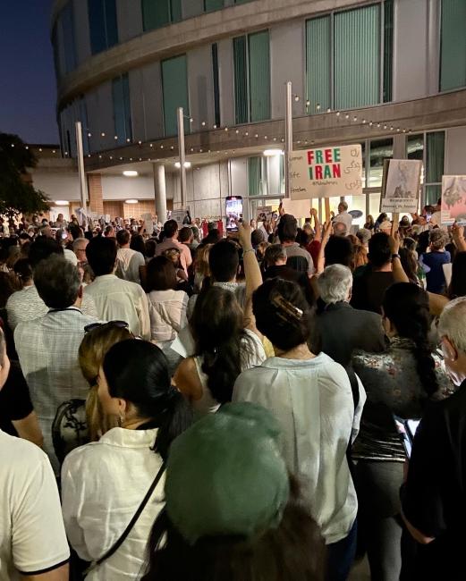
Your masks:
{"label": "person in white patterned shirt mostly hidden behind man in checked shirt", "polygon": [[[30,265],[34,271],[41,260],[46,260],[52,255],[64,256],[64,249],[55,242],[41,236],[30,245]],[[81,303],[81,311],[84,315],[97,318],[97,309],[91,297],[85,297]],[[8,325],[12,331],[21,322],[28,322],[40,316],[47,315],[48,307],[38,296],[38,290],[34,285],[24,287],[22,290],[13,292],[13,295],[6,302],[6,314]]]}

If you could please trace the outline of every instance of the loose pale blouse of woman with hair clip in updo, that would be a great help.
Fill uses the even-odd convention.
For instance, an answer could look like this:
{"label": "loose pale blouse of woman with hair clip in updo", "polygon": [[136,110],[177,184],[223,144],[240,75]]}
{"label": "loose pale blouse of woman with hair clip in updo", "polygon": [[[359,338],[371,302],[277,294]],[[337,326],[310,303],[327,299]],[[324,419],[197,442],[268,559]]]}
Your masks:
{"label": "loose pale blouse of woman with hair clip in updo", "polygon": [[258,403],[279,422],[283,457],[299,478],[304,501],[327,544],[349,534],[358,511],[346,459],[366,400],[358,383],[360,401],[354,410],[344,367],[320,353],[307,360],[268,358],[243,372],[233,389],[233,401]]}

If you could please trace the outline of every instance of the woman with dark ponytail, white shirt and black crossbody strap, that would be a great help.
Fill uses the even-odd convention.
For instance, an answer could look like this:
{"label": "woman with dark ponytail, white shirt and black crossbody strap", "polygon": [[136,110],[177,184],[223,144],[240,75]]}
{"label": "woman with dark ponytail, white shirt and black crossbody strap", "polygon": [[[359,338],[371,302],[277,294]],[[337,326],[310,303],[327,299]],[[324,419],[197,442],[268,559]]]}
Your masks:
{"label": "woman with dark ponytail, white shirt and black crossbody strap", "polygon": [[[98,397],[119,427],[64,460],[64,523],[80,559],[96,563],[123,535],[161,470],[170,443],[190,423],[189,407],[174,390],[165,355],[130,339],[106,354]],[[140,578],[154,519],[164,505],[164,478],[116,552],[90,568],[88,580]]]}

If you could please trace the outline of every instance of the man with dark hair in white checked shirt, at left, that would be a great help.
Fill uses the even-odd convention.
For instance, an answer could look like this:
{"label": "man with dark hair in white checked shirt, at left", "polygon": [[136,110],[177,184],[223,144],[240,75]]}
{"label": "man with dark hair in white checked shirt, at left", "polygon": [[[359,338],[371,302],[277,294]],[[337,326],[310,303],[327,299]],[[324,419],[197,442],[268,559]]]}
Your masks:
{"label": "man with dark hair in white checked shirt, at left", "polygon": [[57,470],[52,422],[64,401],[84,400],[88,395],[89,384],[80,371],[78,350],[84,327],[96,319],[81,313],[80,274],[63,257],[42,261],[34,272],[34,282],[49,310],[45,316],[18,324],[14,344],[44,434],[44,450]]}

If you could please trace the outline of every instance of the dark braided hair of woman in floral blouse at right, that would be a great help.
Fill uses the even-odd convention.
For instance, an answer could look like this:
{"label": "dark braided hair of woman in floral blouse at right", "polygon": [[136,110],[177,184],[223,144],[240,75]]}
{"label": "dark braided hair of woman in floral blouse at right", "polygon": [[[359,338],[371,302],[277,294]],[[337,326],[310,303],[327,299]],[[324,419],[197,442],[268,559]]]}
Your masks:
{"label": "dark braided hair of woman in floral blouse at right", "polygon": [[397,282],[386,290],[383,308],[398,335],[414,342],[413,355],[420,383],[429,396],[433,395],[438,390],[438,382],[428,342],[428,293],[412,282]]}

